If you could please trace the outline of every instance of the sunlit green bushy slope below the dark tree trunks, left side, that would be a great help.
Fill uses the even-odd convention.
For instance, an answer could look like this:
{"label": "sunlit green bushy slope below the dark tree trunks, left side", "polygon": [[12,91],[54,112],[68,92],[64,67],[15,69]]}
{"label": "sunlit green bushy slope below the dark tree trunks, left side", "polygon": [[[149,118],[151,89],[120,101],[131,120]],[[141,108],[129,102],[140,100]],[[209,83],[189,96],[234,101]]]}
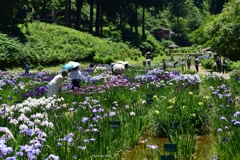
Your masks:
{"label": "sunlit green bushy slope below the dark tree trunks, left side", "polygon": [[[24,61],[31,66],[55,66],[68,61],[92,61],[110,63],[114,60],[141,56],[140,50],[124,43],[100,39],[55,24],[34,22],[22,28],[27,42],[6,35],[0,37],[3,66],[19,67]],[[28,33],[28,34],[26,34]],[[95,57],[95,58],[94,58]]]}

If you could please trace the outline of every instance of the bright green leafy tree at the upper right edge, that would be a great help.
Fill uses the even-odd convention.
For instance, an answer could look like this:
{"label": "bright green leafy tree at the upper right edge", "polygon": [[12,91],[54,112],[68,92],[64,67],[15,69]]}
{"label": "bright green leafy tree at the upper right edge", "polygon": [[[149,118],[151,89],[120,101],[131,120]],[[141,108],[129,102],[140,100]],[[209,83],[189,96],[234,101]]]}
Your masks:
{"label": "bright green leafy tree at the upper right edge", "polygon": [[210,46],[213,51],[231,60],[239,60],[239,4],[238,0],[233,0],[225,5],[222,13],[209,17],[205,25],[193,33],[192,41]]}

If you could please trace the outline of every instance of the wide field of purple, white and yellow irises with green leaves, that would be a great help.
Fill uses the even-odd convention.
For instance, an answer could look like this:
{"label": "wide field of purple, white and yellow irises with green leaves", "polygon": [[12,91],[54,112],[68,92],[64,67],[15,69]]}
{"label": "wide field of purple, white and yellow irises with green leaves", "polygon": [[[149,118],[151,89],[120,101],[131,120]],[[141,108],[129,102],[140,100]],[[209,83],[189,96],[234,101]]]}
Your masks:
{"label": "wide field of purple, white and yellow irises with green leaves", "polygon": [[[158,66],[131,66],[113,76],[109,65],[82,69],[81,88],[46,98],[56,73],[1,72],[0,158],[121,159],[136,146],[142,157],[160,159],[167,137],[176,159],[201,159],[197,136],[208,135],[208,158],[240,156],[240,71],[229,80],[193,71],[165,72]],[[146,136],[147,135],[147,136]]]}

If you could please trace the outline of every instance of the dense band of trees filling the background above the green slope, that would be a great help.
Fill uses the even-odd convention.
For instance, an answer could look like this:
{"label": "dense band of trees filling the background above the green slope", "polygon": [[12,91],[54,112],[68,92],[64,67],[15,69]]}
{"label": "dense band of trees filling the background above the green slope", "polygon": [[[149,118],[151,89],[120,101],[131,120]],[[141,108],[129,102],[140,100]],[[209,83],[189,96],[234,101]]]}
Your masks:
{"label": "dense band of trees filling the background above the green slope", "polygon": [[[237,35],[234,33],[238,32],[238,26],[233,22],[233,13],[227,11],[227,8],[237,6],[236,3],[237,0],[2,0],[0,32],[19,36],[15,33],[19,22],[27,24],[26,22],[32,19],[48,19],[50,22],[74,26],[96,36],[103,36],[104,26],[122,32],[127,29],[131,32],[134,43],[140,44],[137,40],[142,37],[144,41],[146,32],[151,33],[153,29],[167,27],[174,33],[171,40],[180,46],[205,43],[217,50],[222,45],[219,52],[230,54],[238,51],[238,41],[235,41],[234,37]],[[223,9],[225,5],[226,8]],[[58,13],[54,19],[51,17],[53,11]],[[59,14],[62,12],[64,14]],[[211,17],[219,13],[213,22]],[[238,18],[236,14],[235,17]],[[205,24],[204,21],[211,22]],[[196,35],[201,33],[204,36],[191,35],[196,29]],[[231,34],[234,35],[230,36]],[[124,37],[127,34],[122,35]],[[208,39],[209,35],[211,39]],[[190,37],[194,37],[192,41]],[[222,42],[235,46],[226,48]]]}

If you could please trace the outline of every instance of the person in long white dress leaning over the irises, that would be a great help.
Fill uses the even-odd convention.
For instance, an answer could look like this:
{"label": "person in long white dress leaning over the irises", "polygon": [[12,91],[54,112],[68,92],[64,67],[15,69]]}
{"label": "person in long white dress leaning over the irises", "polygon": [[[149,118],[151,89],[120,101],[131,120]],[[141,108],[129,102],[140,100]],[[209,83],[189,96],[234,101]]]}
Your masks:
{"label": "person in long white dress leaning over the irises", "polygon": [[55,96],[58,98],[59,93],[61,93],[61,87],[63,85],[62,81],[68,75],[67,71],[62,71],[62,74],[56,75],[48,84],[47,97]]}

